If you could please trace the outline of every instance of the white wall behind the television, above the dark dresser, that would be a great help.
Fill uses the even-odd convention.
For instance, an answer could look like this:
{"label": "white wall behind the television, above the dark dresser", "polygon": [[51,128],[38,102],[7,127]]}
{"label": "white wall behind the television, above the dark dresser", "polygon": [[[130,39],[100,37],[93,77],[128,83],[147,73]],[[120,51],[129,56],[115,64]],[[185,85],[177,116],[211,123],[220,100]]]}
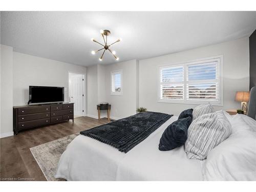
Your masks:
{"label": "white wall behind the television, above the dark dresser", "polygon": [[87,73],[86,67],[13,52],[13,104],[25,105],[29,86],[65,87],[68,101],[69,72]]}

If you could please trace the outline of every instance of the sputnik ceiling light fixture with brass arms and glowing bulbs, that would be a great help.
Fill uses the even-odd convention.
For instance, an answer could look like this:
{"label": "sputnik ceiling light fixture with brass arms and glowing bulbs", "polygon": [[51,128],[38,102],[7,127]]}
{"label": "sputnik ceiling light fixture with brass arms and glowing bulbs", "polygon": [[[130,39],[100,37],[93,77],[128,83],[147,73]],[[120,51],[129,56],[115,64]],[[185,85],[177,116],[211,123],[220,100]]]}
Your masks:
{"label": "sputnik ceiling light fixture with brass arms and glowing bulbs", "polygon": [[[97,51],[92,51],[92,54],[94,55],[95,53],[97,53],[97,52],[99,52],[99,51],[101,51],[101,50],[104,50],[103,53],[102,53],[102,55],[101,55],[101,57],[99,58],[99,60],[101,61],[102,58],[103,58],[103,55],[104,55],[105,51],[108,51],[108,50],[109,50],[109,52],[112,53],[112,55],[115,57],[115,59],[116,59],[116,60],[119,60],[119,57],[116,56],[116,52],[115,52],[115,51],[112,51],[112,50],[110,49],[110,46],[112,46],[112,45],[115,44],[116,42],[121,41],[122,39],[119,38],[119,39],[117,39],[115,42],[113,42],[112,44],[108,45],[108,36],[110,35],[110,31],[109,31],[109,30],[106,30],[106,29],[105,29],[105,30],[100,30],[100,33],[101,33],[101,35],[102,35],[102,37],[103,37],[103,40],[104,40],[104,44],[105,44],[105,45],[101,44],[100,42],[98,42],[97,40],[95,40],[94,38],[92,38],[92,39],[91,39],[92,41],[97,42],[97,44],[103,46],[102,49],[99,49],[99,50],[97,50]],[[104,37],[104,36],[105,36],[105,37]]]}

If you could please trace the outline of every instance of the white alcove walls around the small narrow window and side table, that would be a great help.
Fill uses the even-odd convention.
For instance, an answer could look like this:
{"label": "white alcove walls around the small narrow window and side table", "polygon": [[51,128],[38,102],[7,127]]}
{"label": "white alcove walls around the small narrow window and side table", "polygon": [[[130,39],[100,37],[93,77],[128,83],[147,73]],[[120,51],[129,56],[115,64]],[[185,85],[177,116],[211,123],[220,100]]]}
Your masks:
{"label": "white alcove walls around the small narrow window and side table", "polygon": [[[110,117],[120,119],[136,114],[138,92],[138,62],[130,60],[111,65],[90,66],[87,70],[88,113],[87,116],[98,118],[96,105],[100,102],[111,104]],[[111,72],[123,71],[123,94],[111,95]],[[106,111],[100,112],[101,118]]]}

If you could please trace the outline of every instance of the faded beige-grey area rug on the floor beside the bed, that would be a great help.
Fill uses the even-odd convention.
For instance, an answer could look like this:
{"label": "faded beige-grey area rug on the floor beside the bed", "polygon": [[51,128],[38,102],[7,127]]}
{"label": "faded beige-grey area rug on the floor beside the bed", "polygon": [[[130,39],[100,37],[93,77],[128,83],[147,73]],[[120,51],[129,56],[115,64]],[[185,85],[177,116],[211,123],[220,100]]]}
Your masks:
{"label": "faded beige-grey area rug on the floor beside the bed", "polygon": [[55,179],[54,175],[61,154],[77,135],[79,135],[79,133],[30,148],[32,155],[48,181],[65,181],[64,179]]}

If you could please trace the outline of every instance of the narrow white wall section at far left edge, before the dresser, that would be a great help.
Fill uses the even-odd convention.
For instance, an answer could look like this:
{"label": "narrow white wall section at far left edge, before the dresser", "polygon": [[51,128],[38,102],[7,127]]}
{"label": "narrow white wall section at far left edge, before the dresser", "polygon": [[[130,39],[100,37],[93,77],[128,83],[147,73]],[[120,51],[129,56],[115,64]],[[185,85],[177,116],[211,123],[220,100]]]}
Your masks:
{"label": "narrow white wall section at far left edge, before the dresser", "polygon": [[13,135],[13,49],[1,45],[1,138]]}

